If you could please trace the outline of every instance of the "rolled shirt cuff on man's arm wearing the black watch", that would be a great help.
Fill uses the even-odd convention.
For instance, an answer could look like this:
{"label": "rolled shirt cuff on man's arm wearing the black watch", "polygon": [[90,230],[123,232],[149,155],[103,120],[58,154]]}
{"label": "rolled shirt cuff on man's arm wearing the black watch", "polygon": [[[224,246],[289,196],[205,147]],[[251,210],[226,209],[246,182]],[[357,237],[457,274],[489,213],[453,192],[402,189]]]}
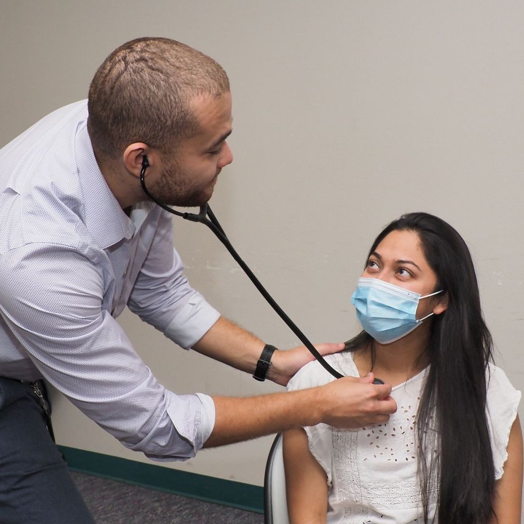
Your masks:
{"label": "rolled shirt cuff on man's arm wearing the black watch", "polygon": [[219,318],[220,313],[206,302],[200,293],[195,292],[167,326],[164,334],[189,350]]}

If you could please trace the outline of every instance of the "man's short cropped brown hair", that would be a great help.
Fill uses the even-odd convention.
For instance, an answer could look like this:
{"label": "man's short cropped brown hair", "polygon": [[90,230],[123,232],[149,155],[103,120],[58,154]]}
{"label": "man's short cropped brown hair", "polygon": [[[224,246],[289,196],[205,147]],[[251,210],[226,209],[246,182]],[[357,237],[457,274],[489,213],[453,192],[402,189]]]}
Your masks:
{"label": "man's short cropped brown hair", "polygon": [[225,71],[196,49],[169,38],[126,42],[104,60],[89,88],[93,148],[108,158],[135,142],[165,151],[195,132],[194,96],[229,90]]}

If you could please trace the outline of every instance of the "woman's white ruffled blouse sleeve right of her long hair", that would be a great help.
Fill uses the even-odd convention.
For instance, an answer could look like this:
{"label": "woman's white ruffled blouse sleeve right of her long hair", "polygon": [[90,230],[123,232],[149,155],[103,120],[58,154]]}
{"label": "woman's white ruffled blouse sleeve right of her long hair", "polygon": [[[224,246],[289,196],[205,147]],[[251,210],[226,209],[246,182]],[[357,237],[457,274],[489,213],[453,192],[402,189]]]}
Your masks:
{"label": "woman's white ruffled blouse sleeve right of her long hair", "polygon": [[502,478],[508,458],[508,440],[511,426],[517,417],[520,391],[515,389],[504,371],[489,366],[486,418],[491,439],[495,480]]}

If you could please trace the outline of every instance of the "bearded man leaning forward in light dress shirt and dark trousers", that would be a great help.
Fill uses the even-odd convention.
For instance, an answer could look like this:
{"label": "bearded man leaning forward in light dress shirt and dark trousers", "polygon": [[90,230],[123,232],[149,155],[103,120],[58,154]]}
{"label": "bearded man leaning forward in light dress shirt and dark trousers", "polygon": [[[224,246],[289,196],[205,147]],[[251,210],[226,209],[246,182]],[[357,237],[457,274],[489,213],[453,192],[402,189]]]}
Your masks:
{"label": "bearded man leaning forward in light dress shirt and dark trousers", "polygon": [[[51,113],[0,151],[0,521],[91,522],[46,431],[42,377],[157,460],[320,422],[384,422],[396,410],[390,387],[372,376],[264,397],[177,396],[114,320],[127,305],[182,347],[249,373],[264,350],[267,378],[281,385],[312,359],[305,348],[271,358],[194,291],[173,250],[171,215],[141,188],[147,157],[156,199],[208,201],[233,160],[231,125],[216,62],[143,38],[104,61],[87,104]],[[265,378],[264,366],[257,373]]]}

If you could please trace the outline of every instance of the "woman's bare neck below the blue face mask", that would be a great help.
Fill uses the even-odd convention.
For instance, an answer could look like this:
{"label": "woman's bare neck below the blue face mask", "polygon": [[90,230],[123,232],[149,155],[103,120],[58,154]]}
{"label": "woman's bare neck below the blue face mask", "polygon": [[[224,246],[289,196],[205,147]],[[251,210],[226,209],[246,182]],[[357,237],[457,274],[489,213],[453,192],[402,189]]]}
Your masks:
{"label": "woman's bare neck below the blue face mask", "polygon": [[380,344],[372,339],[367,347],[353,354],[358,373],[365,376],[371,370],[376,378],[392,386],[402,384],[417,375],[429,364],[429,327],[421,325],[390,344]]}

